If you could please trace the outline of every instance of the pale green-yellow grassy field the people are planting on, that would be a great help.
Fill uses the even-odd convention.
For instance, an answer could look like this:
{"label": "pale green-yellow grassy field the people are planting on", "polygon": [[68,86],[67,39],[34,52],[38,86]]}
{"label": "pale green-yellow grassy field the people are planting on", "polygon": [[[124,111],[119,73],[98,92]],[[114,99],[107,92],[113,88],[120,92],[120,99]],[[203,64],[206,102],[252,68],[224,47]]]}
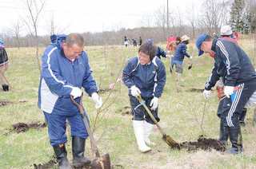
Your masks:
{"label": "pale green-yellow grassy field the people are planting on", "polygon": [[[252,40],[242,39],[242,47],[254,56]],[[164,47],[164,45],[162,45]],[[137,54],[138,48],[123,46],[90,46],[85,48],[94,70],[94,78],[100,88],[109,88],[118,77],[118,73],[128,57]],[[43,49],[40,49],[42,53]],[[10,69],[6,77],[10,81],[10,92],[0,91],[0,100],[10,100],[13,104],[0,107],[0,168],[34,168],[33,163],[46,163],[54,154],[47,135],[47,128],[30,129],[28,132],[8,135],[12,124],[18,122],[43,122],[42,112],[37,107],[38,100],[38,64],[34,49],[7,49],[10,57]],[[194,56],[197,50],[194,49]],[[202,134],[204,98],[201,92],[190,92],[191,88],[204,88],[210,74],[213,60],[210,57],[194,57],[193,69],[187,70],[185,61],[182,92],[176,92],[174,77],[169,73],[169,60],[163,58],[166,65],[166,87],[160,99],[160,124],[164,130],[178,142],[197,140]],[[255,62],[254,62],[255,63]],[[127,88],[118,82],[114,91],[101,94],[104,103],[99,114],[94,135],[98,140],[101,154],[110,153],[115,168],[256,168],[256,127],[253,126],[253,110],[246,116],[246,127],[242,128],[244,154],[226,155],[217,151],[186,150],[174,151],[161,140],[157,128],[151,136],[157,143],[153,151],[142,154],[135,143],[131,125],[131,116],[122,115],[122,108],[129,106]],[[25,103],[19,101],[26,100]],[[84,105],[94,124],[96,110],[89,97],[84,96]],[[213,97],[206,104],[206,116],[203,122],[205,135],[218,139],[219,120],[216,116],[218,99]],[[67,132],[70,135],[70,132]],[[72,159],[70,137],[67,143],[69,159]],[[87,141],[86,154],[92,156]],[[122,166],[122,167],[120,167]]]}

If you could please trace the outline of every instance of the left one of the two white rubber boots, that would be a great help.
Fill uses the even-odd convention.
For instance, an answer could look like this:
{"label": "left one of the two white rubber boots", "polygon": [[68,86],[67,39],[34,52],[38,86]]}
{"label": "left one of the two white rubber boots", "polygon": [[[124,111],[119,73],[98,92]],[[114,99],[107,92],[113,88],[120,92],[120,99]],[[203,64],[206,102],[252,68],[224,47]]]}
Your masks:
{"label": "left one of the two white rubber boots", "polygon": [[148,152],[151,151],[150,147],[146,146],[146,143],[144,141],[144,122],[133,120],[133,126],[134,126],[134,134],[137,140],[138,149],[141,152]]}

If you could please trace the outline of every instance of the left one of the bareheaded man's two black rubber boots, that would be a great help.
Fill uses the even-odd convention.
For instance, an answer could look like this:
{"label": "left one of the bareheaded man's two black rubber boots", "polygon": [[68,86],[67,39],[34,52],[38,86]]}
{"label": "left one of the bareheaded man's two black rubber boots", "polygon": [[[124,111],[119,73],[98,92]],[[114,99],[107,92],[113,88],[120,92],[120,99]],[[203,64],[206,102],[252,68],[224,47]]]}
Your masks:
{"label": "left one of the bareheaded man's two black rubber boots", "polygon": [[66,158],[65,144],[59,144],[54,146],[54,152],[58,160],[58,167],[60,169],[71,169],[69,160]]}

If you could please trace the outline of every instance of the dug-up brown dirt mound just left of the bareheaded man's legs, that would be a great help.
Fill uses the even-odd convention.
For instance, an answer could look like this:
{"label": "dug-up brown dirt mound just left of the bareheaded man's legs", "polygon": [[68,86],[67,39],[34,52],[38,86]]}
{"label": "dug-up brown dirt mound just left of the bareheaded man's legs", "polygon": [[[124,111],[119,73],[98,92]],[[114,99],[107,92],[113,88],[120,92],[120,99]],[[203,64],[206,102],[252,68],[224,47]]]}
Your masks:
{"label": "dug-up brown dirt mound just left of the bareheaded man's legs", "polygon": [[13,124],[13,131],[14,132],[26,132],[29,130],[29,128],[46,128],[46,123],[39,123],[39,122],[35,122],[35,123],[31,123],[31,124],[25,124],[25,123],[18,123],[18,124]]}

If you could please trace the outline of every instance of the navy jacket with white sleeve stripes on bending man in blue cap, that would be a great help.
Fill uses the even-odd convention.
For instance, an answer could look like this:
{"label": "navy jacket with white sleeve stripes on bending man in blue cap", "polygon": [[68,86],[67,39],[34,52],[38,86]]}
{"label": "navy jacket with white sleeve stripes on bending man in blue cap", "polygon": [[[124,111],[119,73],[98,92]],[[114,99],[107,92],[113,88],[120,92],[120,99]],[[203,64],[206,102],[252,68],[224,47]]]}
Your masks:
{"label": "navy jacket with white sleeve stripes on bending man in blue cap", "polygon": [[219,77],[224,85],[237,86],[246,81],[256,80],[256,72],[250,58],[234,42],[214,39],[212,50],[215,52],[214,68],[206,81],[206,90],[214,87]]}

